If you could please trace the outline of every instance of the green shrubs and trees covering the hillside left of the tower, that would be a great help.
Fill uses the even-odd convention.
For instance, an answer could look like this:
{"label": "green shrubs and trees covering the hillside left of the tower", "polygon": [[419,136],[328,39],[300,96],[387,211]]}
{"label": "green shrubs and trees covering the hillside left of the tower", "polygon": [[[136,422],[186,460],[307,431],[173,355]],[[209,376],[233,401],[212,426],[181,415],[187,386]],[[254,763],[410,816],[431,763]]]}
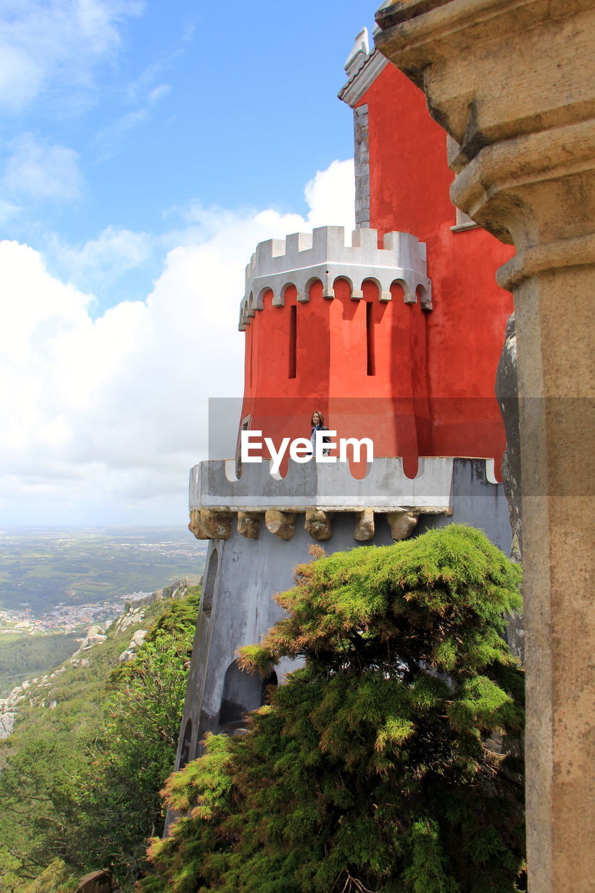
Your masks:
{"label": "green shrubs and trees covering the hillside left of the tower", "polygon": [[50,890],[55,876],[62,890],[64,877],[104,867],[130,888],[143,871],[147,837],[163,828],[158,791],[174,763],[198,600],[190,588],[148,605],[130,662],[118,655],[138,623],[108,630],[87,665],[67,664],[43,691],[55,709],[34,696],[24,710],[0,746],[0,888]]}

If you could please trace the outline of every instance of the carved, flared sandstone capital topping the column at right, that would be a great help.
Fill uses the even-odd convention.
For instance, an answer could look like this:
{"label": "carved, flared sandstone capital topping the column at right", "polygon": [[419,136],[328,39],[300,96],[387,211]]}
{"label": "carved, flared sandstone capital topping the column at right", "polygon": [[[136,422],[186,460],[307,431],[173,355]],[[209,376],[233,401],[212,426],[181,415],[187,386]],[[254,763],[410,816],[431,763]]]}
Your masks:
{"label": "carved, flared sandstone capital topping the column at right", "polygon": [[376,46],[452,138],[457,207],[519,250],[592,232],[593,0],[409,0],[376,18]]}

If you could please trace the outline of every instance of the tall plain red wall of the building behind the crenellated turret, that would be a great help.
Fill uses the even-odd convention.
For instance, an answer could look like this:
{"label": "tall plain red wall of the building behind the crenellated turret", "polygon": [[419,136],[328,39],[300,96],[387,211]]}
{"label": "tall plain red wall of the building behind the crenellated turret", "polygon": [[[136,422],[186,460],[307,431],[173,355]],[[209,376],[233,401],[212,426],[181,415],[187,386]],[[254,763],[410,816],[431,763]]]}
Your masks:
{"label": "tall plain red wall of the building behind the crenellated turret", "polygon": [[[368,66],[376,66],[372,54]],[[365,68],[358,73],[365,77]],[[357,99],[367,109],[369,225],[427,245],[433,310],[424,316],[432,455],[494,455],[506,438],[494,380],[512,298],[494,279],[512,255],[450,201],[447,137],[424,96],[390,63]],[[362,150],[360,147],[360,154]],[[458,226],[457,226],[458,223]],[[423,452],[423,451],[422,451]]]}

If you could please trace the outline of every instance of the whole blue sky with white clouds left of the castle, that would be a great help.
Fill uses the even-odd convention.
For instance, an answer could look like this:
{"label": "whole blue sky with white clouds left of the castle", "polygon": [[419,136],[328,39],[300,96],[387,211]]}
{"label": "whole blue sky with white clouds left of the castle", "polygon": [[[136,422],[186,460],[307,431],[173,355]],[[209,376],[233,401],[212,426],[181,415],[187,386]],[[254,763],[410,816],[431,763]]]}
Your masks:
{"label": "whole blue sky with white clouds left of the castle", "polygon": [[361,0],[0,0],[0,524],[185,523],[256,243],[353,218]]}

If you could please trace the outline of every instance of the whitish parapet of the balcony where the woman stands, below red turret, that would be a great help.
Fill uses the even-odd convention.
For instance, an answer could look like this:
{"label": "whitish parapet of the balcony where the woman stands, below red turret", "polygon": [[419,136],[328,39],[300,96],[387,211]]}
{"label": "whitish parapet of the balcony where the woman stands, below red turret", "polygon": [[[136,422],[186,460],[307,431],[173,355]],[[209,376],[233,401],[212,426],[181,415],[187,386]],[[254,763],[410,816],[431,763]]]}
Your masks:
{"label": "whitish parapet of the balcony where the woman stands, below red turret", "polygon": [[357,480],[348,463],[289,462],[286,476],[272,476],[269,462],[245,464],[237,478],[235,463],[201,462],[190,471],[190,511],[374,512],[398,510],[449,513],[452,509],[454,459],[419,460],[415,478],[407,478],[399,458],[378,458]]}

